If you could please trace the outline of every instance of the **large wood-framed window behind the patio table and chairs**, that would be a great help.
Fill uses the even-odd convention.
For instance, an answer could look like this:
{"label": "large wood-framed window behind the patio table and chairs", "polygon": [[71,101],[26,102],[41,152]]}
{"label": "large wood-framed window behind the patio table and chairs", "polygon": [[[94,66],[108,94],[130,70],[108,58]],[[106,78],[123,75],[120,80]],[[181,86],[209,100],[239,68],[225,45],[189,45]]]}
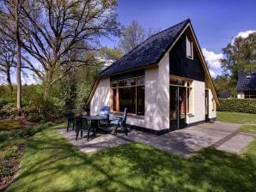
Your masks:
{"label": "large wood-framed window behind the patio table and chairs", "polygon": [[144,115],[145,86],[144,77],[111,81],[112,111],[128,112],[139,116]]}

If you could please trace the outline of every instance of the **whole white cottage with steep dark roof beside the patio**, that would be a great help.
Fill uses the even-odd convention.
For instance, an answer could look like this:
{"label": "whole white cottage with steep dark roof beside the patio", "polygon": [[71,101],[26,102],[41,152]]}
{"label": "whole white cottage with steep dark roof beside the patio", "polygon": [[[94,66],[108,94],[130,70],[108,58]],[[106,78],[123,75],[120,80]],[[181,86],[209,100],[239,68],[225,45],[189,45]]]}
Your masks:
{"label": "whole white cottage with steep dark roof beside the patio", "polygon": [[89,97],[90,113],[129,108],[127,123],[154,134],[216,118],[216,91],[191,21],[146,39],[101,71]]}

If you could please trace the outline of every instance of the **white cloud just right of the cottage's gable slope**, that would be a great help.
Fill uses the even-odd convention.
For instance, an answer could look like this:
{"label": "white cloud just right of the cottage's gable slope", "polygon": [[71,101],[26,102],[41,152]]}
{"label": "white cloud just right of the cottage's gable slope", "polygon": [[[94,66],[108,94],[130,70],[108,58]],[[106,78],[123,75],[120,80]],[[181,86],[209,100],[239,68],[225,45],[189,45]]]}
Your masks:
{"label": "white cloud just right of the cottage's gable slope", "polygon": [[206,62],[210,65],[212,69],[219,69],[221,68],[221,59],[224,58],[222,53],[215,53],[213,51],[208,51],[203,48],[203,55]]}

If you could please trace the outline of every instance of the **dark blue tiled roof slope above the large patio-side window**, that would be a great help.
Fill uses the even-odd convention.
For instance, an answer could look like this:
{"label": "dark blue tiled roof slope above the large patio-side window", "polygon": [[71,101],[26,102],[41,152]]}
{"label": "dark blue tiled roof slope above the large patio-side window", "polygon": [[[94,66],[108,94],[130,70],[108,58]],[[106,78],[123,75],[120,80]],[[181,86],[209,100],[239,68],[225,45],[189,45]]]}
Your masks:
{"label": "dark blue tiled roof slope above the large patio-side window", "polygon": [[137,45],[132,51],[128,52],[124,57],[114,62],[112,65],[101,71],[97,77],[117,74],[126,70],[140,69],[159,63],[162,56],[173,45],[175,39],[178,38],[184,27],[190,23],[190,20],[182,21],[173,27],[155,33],[142,44]]}

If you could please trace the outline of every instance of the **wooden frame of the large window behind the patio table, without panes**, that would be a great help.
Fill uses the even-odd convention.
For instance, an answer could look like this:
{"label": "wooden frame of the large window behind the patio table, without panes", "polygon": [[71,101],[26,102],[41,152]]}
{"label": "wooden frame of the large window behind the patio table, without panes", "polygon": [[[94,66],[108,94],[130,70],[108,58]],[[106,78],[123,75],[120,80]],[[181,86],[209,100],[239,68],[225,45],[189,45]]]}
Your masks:
{"label": "wooden frame of the large window behind the patio table, without panes", "polygon": [[[138,84],[138,79],[143,78],[143,84]],[[135,85],[129,85],[129,86],[119,86],[119,81],[125,81],[125,80],[130,80],[130,79],[134,79],[135,80]],[[116,87],[113,87],[113,82],[116,82]],[[120,88],[127,88],[127,87],[135,87],[135,113],[131,113],[128,111],[128,114],[131,116],[137,116],[137,117],[144,117],[145,115],[145,93],[144,93],[144,115],[138,115],[137,114],[137,87],[144,87],[144,91],[145,91],[145,75],[139,75],[139,76],[135,76],[135,77],[129,77],[129,78],[124,78],[124,79],[119,79],[119,80],[115,80],[115,81],[110,81],[110,89],[111,89],[111,94],[110,94],[110,100],[111,100],[111,105],[110,105],[110,111],[113,113],[124,113],[124,111],[120,111],[119,107],[120,107],[120,102],[119,102],[119,89]],[[116,110],[113,110],[113,89],[116,90]]]}

